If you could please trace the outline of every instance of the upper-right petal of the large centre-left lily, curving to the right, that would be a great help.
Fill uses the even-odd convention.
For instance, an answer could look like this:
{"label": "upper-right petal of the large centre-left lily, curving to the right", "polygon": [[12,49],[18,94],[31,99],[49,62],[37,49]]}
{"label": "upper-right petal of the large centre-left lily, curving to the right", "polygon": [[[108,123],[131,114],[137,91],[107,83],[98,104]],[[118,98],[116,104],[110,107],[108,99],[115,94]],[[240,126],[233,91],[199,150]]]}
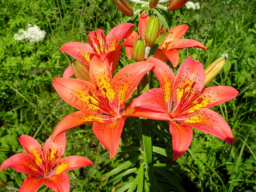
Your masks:
{"label": "upper-right petal of the large centre-left lily, curving to the right", "polygon": [[122,104],[131,98],[142,77],[150,71],[154,63],[141,61],[129,64],[120,69],[111,82],[119,102]]}

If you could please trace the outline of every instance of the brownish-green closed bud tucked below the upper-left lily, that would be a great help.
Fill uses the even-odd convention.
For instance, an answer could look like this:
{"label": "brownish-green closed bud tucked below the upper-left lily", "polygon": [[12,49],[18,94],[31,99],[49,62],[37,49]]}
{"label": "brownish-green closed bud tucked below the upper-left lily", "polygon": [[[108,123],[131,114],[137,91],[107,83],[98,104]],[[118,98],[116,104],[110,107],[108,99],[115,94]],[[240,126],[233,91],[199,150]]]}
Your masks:
{"label": "brownish-green closed bud tucked below the upper-left lily", "polygon": [[76,76],[77,79],[81,79],[81,80],[92,83],[89,70],[85,67],[82,61],[74,59],[71,62],[71,66],[72,66],[74,75]]}

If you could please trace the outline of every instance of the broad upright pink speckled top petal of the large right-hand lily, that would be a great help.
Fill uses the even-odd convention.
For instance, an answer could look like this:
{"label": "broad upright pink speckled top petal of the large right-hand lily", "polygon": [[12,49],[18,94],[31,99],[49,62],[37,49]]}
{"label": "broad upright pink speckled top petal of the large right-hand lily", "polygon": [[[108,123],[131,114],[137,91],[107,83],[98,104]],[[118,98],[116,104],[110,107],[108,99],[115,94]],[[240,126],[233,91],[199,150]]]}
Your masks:
{"label": "broad upright pink speckled top petal of the large right-hand lily", "polygon": [[[173,83],[172,97],[174,106],[172,110],[175,110],[184,92],[201,92],[204,87],[204,81],[203,65],[199,61],[192,59],[192,56],[185,59],[181,63]],[[193,96],[193,94],[188,95],[186,100],[189,101]]]}

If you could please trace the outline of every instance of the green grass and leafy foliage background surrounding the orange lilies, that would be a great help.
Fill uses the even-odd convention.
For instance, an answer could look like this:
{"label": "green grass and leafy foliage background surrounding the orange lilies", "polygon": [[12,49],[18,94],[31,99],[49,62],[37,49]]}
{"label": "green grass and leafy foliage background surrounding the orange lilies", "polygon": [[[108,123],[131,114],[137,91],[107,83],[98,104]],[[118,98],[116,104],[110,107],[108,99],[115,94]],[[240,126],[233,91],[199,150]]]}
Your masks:
{"label": "green grass and leafy foliage background surrounding the orange lilies", "polygon": [[[230,125],[235,145],[193,129],[188,151],[172,162],[168,124],[153,121],[150,142],[156,187],[158,191],[255,191],[256,2],[199,2],[199,10],[186,7],[178,10],[187,20],[177,16],[179,12],[169,12],[169,19],[160,18],[160,22],[168,28],[188,24],[184,38],[202,42],[208,49],[207,52],[196,48],[180,50],[180,63],[192,55],[206,68],[220,54],[228,53],[224,69],[209,85],[228,85],[239,91],[234,100],[213,108]],[[53,78],[62,76],[72,61],[59,51],[60,46],[71,41],[88,43],[90,31],[101,28],[107,34],[130,18],[110,0],[1,0],[0,3],[0,162],[3,162],[23,151],[18,142],[20,135],[28,134],[43,144],[58,122],[76,111],[52,87]],[[45,30],[45,39],[35,44],[14,40],[14,33],[25,29],[28,23]],[[119,68],[132,62],[122,53]],[[158,84],[156,79],[153,84]],[[140,148],[134,147],[140,146],[139,126],[134,118],[127,120],[120,153],[114,159],[102,151],[104,148],[90,124],[67,131],[65,155],[85,156],[93,162],[92,166],[68,172],[70,190],[132,191],[140,190],[139,182],[143,191],[150,191],[153,186],[148,176],[142,181],[138,177],[143,173],[138,164]],[[19,188],[26,175],[8,168],[0,177]],[[49,189],[43,186],[38,191],[45,190]]]}

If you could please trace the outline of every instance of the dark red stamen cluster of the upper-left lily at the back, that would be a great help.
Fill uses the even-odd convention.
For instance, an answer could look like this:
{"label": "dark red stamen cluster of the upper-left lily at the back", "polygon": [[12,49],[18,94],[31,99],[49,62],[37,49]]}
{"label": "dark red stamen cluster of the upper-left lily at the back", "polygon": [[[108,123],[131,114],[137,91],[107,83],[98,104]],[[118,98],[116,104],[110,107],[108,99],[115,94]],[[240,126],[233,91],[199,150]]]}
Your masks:
{"label": "dark red stamen cluster of the upper-left lily at the back", "polygon": [[97,33],[94,32],[94,35],[91,37],[88,37],[88,41],[95,53],[106,53],[107,50],[107,44],[106,44],[106,37],[103,34],[103,32],[100,33],[100,36],[97,36]]}

